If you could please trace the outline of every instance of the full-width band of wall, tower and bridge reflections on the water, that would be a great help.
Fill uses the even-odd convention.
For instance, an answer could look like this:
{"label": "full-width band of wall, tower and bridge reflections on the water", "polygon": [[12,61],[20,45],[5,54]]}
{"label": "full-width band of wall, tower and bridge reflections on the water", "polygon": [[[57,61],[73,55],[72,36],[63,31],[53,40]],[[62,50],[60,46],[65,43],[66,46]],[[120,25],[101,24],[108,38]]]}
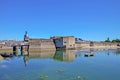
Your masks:
{"label": "full-width band of wall, tower and bridge reflections on the water", "polygon": [[[100,54],[99,54],[100,53]],[[36,52],[18,52],[18,53],[1,53],[0,55],[3,59],[8,58],[23,58],[25,66],[29,64],[30,59],[52,59],[58,62],[73,62],[75,58],[83,58],[86,57],[87,54],[88,59],[91,57],[99,58],[101,53],[106,54],[107,56],[119,56],[120,48],[118,49],[85,49],[85,50],[51,50],[51,51],[36,51]],[[12,56],[11,56],[12,54]],[[92,54],[92,56],[90,55]],[[89,56],[90,55],[90,56]]]}

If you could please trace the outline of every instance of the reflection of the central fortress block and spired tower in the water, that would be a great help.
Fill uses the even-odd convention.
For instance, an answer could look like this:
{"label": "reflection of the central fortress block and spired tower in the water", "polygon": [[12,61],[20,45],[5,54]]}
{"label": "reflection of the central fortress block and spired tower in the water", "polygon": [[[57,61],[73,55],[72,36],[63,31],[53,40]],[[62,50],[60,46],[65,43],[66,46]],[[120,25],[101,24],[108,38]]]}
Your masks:
{"label": "reflection of the central fortress block and spired tower in the water", "polygon": [[24,57],[25,66],[28,64],[28,60],[34,58],[51,58],[55,61],[65,61],[71,62],[75,60],[75,51],[74,50],[58,50],[58,51],[46,51],[46,52],[28,52],[27,55],[22,54]]}

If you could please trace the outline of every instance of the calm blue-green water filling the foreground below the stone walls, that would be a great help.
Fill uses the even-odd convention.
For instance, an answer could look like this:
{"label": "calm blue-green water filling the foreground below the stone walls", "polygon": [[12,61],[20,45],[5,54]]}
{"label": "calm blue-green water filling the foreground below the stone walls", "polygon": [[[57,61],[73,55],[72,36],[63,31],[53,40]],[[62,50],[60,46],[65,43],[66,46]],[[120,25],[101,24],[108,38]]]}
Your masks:
{"label": "calm blue-green water filling the foreground below the stone walls", "polygon": [[[86,53],[94,56],[84,57]],[[0,80],[120,80],[119,50],[30,52],[0,60]]]}

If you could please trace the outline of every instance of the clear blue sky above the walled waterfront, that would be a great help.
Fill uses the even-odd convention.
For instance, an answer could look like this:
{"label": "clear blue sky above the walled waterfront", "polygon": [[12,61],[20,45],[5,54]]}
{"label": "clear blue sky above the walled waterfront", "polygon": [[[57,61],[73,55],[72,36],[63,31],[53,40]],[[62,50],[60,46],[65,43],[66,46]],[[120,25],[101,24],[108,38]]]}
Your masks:
{"label": "clear blue sky above the walled waterfront", "polygon": [[0,0],[0,39],[120,38],[120,0]]}

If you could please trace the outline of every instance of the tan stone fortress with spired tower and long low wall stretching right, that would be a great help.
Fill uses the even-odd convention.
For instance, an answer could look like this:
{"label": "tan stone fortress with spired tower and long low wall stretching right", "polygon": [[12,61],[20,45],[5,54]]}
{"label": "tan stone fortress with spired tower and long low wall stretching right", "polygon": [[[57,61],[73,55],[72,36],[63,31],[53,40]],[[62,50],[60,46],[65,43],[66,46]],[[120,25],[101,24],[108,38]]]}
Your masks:
{"label": "tan stone fortress with spired tower and long low wall stretching right", "polygon": [[74,36],[53,36],[50,39],[29,38],[24,35],[24,42],[28,42],[30,51],[55,50],[55,49],[79,49],[79,48],[116,48],[118,43],[91,42],[75,39]]}

